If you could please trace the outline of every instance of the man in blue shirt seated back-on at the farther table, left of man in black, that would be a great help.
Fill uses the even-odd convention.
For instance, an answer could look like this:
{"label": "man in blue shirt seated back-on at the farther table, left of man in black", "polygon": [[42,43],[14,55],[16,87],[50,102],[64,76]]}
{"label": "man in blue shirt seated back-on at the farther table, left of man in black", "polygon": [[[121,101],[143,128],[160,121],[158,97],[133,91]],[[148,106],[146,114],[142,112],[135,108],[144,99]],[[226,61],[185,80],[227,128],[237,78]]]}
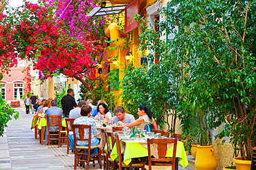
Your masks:
{"label": "man in blue shirt seated back-on at the farther table, left of man in black", "polygon": [[[57,107],[57,100],[51,100],[51,105],[52,107],[46,109],[46,113],[45,116],[52,116],[52,115],[62,115],[62,109]],[[53,122],[51,120],[51,118],[49,118],[49,125],[52,125]],[[51,131],[57,131],[59,129],[58,126],[54,126],[54,127],[49,127],[49,130]],[[45,142],[44,145],[48,145],[48,130],[46,127],[46,131],[45,131]]]}

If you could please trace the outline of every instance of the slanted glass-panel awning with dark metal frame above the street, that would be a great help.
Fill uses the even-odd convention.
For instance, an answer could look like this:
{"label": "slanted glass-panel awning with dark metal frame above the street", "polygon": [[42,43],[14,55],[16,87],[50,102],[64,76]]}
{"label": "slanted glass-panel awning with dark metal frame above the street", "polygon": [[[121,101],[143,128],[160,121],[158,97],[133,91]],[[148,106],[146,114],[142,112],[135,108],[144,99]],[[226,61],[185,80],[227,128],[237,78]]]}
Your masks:
{"label": "slanted glass-panel awning with dark metal frame above the street", "polygon": [[102,7],[96,7],[91,10],[89,14],[86,15],[86,17],[95,17],[95,16],[103,16],[103,15],[109,15],[109,14],[119,14],[123,10],[125,10],[125,7],[127,5],[120,5],[120,6],[105,6]]}

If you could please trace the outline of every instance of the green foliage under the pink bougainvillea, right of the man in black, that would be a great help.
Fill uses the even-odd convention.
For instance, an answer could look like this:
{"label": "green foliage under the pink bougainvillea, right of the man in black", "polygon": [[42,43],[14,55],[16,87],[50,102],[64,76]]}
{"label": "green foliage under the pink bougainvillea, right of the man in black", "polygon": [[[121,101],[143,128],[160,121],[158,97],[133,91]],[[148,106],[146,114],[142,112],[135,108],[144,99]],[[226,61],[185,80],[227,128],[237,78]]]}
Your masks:
{"label": "green foliage under the pink bougainvillea, right of the man in black", "polygon": [[107,74],[106,76],[109,76],[107,81],[100,80],[94,82],[94,88],[89,92],[86,88],[84,88],[83,85],[80,85],[80,98],[78,100],[87,100],[91,98],[94,105],[97,105],[98,100],[104,100],[108,104],[109,109],[113,111],[113,109],[116,107],[117,97],[114,95],[113,91],[109,91],[109,85],[104,87],[104,84],[110,84],[109,82],[115,80],[116,74],[113,74],[113,76]]}

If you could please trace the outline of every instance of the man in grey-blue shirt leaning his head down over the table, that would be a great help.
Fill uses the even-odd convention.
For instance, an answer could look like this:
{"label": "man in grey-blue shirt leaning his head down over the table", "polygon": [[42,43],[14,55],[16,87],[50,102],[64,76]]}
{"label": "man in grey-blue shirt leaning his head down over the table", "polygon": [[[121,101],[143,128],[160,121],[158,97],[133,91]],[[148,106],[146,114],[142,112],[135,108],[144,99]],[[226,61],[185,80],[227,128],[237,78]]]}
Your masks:
{"label": "man in grey-blue shirt leaning his head down over the table", "polygon": [[135,120],[133,115],[125,113],[125,109],[122,106],[117,106],[114,111],[116,116],[111,119],[112,124],[118,123],[119,125],[125,125],[126,123],[132,123]]}

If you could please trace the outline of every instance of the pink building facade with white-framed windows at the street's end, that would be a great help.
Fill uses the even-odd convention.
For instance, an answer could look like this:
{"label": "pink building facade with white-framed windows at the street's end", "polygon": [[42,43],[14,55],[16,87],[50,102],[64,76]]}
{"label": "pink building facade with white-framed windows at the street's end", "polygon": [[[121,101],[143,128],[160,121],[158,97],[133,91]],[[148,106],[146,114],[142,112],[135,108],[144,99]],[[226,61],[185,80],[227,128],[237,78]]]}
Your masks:
{"label": "pink building facade with white-framed windows at the street's end", "polygon": [[12,67],[9,75],[4,74],[0,81],[1,98],[8,101],[21,100],[24,94],[30,92],[30,70],[24,71],[26,65],[19,63]]}

